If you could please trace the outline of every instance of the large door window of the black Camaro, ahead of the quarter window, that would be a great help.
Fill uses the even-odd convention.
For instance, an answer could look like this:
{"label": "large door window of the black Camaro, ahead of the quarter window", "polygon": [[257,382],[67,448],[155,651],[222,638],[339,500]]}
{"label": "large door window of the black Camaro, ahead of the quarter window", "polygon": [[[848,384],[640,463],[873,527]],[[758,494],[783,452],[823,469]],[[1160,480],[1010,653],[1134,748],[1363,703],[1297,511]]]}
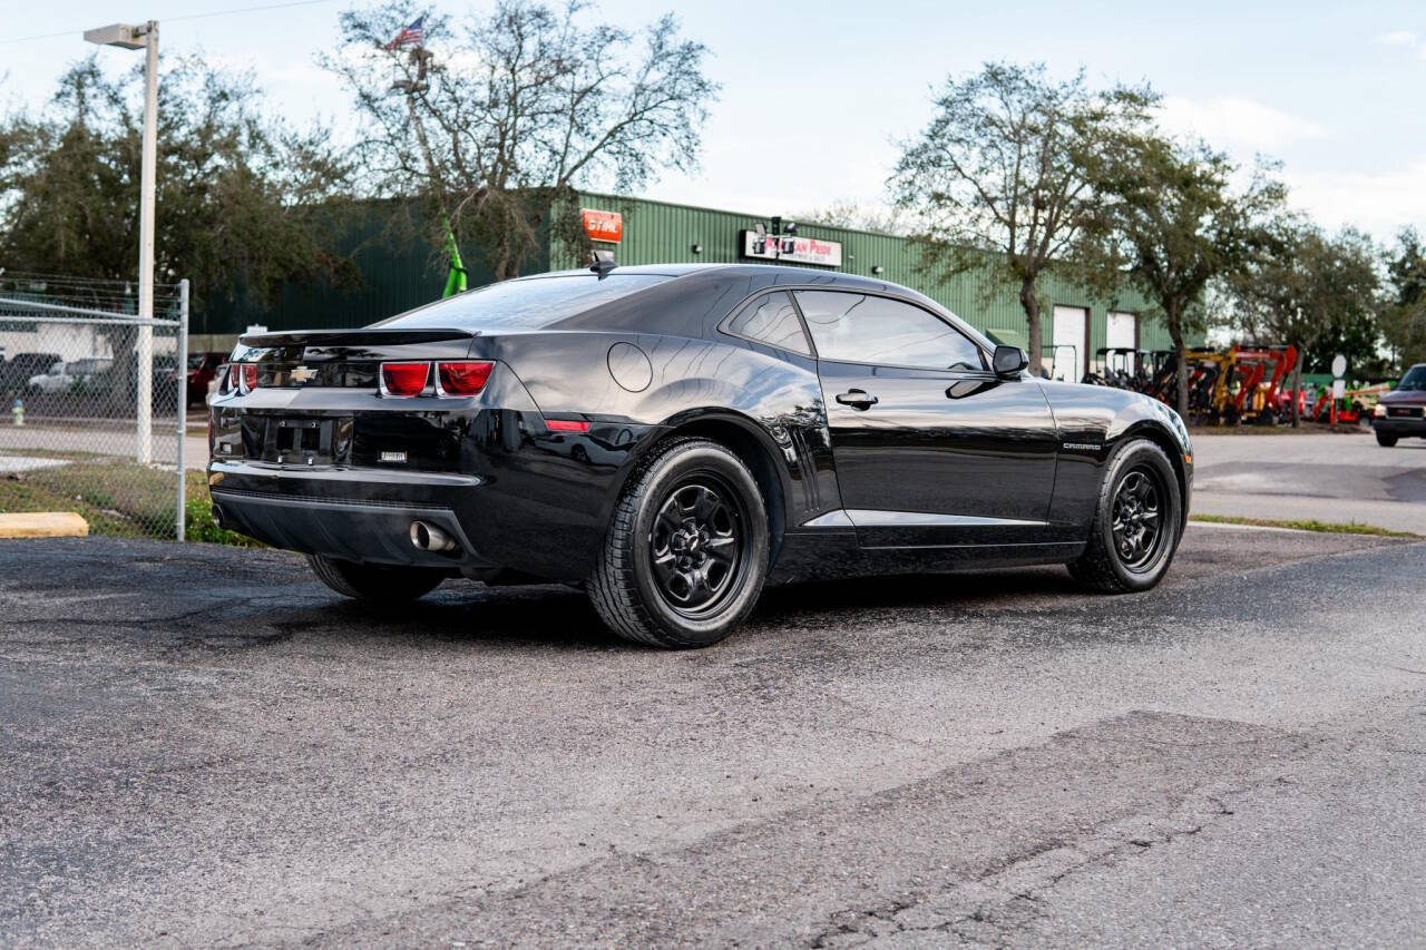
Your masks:
{"label": "large door window of the black Camaro, ahead of the quarter window", "polygon": [[971,372],[985,368],[980,347],[920,307],[846,291],[796,294],[821,359]]}

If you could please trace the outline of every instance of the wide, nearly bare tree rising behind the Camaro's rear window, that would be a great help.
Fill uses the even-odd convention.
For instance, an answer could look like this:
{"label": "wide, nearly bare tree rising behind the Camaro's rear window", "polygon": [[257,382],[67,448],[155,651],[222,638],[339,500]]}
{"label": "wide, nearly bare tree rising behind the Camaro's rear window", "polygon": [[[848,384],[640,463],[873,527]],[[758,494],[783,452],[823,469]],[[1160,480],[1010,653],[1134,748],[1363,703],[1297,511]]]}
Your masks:
{"label": "wide, nearly bare tree rising behind the Camaro's rear window", "polygon": [[[501,0],[459,31],[426,16],[429,47],[404,53],[386,48],[414,19],[396,0],[344,13],[347,50],[324,60],[364,120],[358,155],[371,188],[434,205],[434,220],[473,240],[498,280],[519,275],[546,228],[583,241],[576,187],[635,190],[696,164],[717,93],[703,74],[707,50],[682,39],[672,14],[640,44],[586,24],[585,10],[578,0]],[[565,214],[552,220],[552,208]]]}

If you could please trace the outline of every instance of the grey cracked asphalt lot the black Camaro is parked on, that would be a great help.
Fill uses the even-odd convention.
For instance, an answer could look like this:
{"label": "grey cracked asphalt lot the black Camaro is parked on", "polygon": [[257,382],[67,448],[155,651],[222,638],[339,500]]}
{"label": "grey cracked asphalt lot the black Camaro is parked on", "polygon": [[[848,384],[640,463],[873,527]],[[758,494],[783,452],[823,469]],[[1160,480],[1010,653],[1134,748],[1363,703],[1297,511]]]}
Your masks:
{"label": "grey cracked asphalt lot the black Camaro is parked on", "polygon": [[0,944],[1360,944],[1426,933],[1426,545],[784,588],[713,649],[566,588],[0,543]]}

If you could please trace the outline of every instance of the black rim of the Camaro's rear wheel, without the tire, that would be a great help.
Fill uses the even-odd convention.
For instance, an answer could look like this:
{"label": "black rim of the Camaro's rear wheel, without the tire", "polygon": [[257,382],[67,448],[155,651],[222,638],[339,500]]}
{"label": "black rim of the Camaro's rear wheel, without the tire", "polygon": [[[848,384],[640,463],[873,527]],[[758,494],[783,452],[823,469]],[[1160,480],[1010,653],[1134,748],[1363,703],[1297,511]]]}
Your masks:
{"label": "black rim of the Camaro's rear wheel, without the tire", "polygon": [[665,496],[649,533],[659,593],[682,616],[717,612],[743,569],[744,505],[713,472],[677,484]]}

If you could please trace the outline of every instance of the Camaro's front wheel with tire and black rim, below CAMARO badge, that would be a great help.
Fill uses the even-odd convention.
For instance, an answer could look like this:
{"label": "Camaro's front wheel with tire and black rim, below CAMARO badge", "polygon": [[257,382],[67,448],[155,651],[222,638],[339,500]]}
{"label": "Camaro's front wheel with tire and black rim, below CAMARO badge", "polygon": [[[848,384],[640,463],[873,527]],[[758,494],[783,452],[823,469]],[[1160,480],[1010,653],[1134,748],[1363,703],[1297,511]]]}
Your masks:
{"label": "Camaro's front wheel with tire and black rim, below CAMARO badge", "polygon": [[1154,442],[1127,442],[1109,461],[1075,581],[1107,593],[1148,591],[1178,549],[1184,502],[1174,465]]}

